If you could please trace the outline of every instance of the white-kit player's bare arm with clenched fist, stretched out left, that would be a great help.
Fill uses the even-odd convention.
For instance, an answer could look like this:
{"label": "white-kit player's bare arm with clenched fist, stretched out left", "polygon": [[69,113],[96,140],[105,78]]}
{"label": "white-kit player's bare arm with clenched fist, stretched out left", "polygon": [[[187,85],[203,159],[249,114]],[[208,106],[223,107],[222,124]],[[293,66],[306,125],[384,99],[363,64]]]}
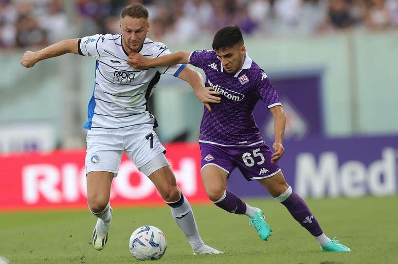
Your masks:
{"label": "white-kit player's bare arm with clenched fist, stretched out left", "polygon": [[46,58],[57,57],[66,53],[79,54],[78,42],[79,38],[65,39],[36,52],[25,51],[21,57],[21,64],[25,68],[30,68]]}

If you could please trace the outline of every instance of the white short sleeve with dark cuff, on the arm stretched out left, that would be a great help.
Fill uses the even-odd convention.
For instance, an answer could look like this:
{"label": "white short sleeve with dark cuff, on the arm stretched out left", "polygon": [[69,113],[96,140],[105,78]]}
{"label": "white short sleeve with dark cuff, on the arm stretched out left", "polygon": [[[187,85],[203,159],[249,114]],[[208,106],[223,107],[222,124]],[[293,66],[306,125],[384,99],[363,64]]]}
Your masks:
{"label": "white short sleeve with dark cuff, on the arm stretched out left", "polygon": [[102,34],[82,37],[78,42],[79,54],[98,58],[102,55],[105,42],[106,37]]}

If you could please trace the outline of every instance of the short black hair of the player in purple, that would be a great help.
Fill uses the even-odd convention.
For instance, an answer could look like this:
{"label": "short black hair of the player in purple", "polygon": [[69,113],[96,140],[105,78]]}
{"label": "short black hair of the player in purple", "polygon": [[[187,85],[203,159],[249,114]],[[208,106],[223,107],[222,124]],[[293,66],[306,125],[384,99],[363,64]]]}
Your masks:
{"label": "short black hair of the player in purple", "polygon": [[236,25],[226,26],[217,33],[215,33],[213,38],[213,50],[225,50],[226,48],[231,48],[237,44],[244,44],[242,31]]}

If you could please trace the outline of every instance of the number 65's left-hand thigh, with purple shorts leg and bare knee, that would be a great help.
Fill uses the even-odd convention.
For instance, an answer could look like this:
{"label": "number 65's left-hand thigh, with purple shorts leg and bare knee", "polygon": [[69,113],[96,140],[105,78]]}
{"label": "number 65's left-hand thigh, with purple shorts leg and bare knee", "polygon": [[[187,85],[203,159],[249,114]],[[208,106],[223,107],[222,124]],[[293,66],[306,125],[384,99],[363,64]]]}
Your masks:
{"label": "number 65's left-hand thigh, with purple shorts leg and bare knee", "polygon": [[201,148],[201,174],[203,185],[210,200],[218,200],[224,194],[229,173],[235,165],[229,158],[228,148],[206,143]]}

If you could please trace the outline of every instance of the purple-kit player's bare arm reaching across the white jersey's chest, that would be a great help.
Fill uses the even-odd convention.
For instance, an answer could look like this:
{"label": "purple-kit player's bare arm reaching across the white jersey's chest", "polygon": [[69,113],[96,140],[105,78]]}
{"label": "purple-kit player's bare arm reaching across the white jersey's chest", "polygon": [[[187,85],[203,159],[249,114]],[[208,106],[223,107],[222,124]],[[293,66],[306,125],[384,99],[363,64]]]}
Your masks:
{"label": "purple-kit player's bare arm reaching across the white jersey's chest", "polygon": [[169,66],[175,64],[189,63],[189,55],[191,53],[178,51],[157,58],[146,58],[140,53],[131,53],[127,63],[135,69],[148,69],[157,66]]}

